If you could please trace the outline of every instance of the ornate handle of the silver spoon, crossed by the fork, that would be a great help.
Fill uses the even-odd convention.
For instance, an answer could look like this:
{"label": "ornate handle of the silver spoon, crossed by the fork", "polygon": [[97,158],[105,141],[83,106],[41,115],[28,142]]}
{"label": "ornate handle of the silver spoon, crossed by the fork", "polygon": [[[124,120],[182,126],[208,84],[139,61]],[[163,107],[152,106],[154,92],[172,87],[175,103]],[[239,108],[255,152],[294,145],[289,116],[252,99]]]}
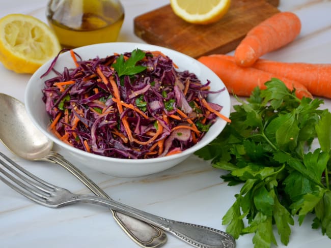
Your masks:
{"label": "ornate handle of the silver spoon, crossed by the fork", "polygon": [[[78,168],[67,161],[61,154],[53,152],[46,156],[44,160],[57,163],[72,173],[82,183],[86,185],[95,195],[111,199],[97,184],[82,173]],[[116,212],[110,209],[114,219],[120,227],[129,235],[129,237],[137,244],[143,247],[160,247],[167,242],[167,235],[157,227],[154,227],[146,222],[137,220],[126,214]]]}

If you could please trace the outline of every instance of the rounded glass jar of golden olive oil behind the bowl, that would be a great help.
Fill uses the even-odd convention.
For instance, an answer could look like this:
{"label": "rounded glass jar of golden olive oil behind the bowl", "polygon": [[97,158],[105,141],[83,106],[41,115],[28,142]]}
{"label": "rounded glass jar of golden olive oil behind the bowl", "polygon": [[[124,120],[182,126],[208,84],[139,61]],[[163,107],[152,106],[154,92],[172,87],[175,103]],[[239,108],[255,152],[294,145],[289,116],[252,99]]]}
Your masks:
{"label": "rounded glass jar of golden olive oil behind the bowl", "polygon": [[124,10],[118,0],[50,0],[46,17],[61,45],[71,49],[116,41]]}

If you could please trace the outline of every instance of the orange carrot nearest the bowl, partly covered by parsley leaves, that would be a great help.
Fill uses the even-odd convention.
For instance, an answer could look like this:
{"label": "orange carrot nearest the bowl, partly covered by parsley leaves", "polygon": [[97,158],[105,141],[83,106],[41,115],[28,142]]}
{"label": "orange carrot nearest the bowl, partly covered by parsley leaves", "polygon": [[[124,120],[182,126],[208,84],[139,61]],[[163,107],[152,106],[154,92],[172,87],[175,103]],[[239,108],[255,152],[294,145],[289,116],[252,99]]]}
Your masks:
{"label": "orange carrot nearest the bowl, partly covered by parsley leaves", "polygon": [[251,67],[240,67],[231,59],[222,58],[221,56],[202,56],[198,60],[222,79],[230,93],[237,96],[248,97],[255,87],[258,86],[264,89],[266,88],[265,82],[271,78],[278,78],[290,90],[295,88],[295,94],[298,98],[312,98],[307,88],[297,81]]}

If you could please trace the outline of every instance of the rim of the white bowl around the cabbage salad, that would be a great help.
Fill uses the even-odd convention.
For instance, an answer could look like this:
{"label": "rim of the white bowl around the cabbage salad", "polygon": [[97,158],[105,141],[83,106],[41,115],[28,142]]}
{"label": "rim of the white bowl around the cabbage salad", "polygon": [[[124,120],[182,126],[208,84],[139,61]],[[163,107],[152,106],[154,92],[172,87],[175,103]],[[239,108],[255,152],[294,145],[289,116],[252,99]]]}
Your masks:
{"label": "rim of the white bowl around the cabbage salad", "polygon": [[[183,54],[181,52],[178,52],[176,50],[170,49],[170,48],[166,48],[166,47],[161,47],[161,46],[156,46],[156,45],[151,45],[151,44],[146,44],[146,43],[135,43],[135,42],[111,42],[111,43],[99,43],[99,44],[93,44],[93,45],[88,45],[88,46],[82,46],[82,47],[78,47],[73,49],[75,52],[77,52],[79,55],[81,55],[84,59],[84,50],[85,49],[93,49],[97,46],[128,46],[128,47],[139,47],[141,46],[142,50],[147,50],[146,47],[148,47],[150,50],[154,49],[154,50],[161,50],[164,54],[168,55],[167,52],[172,53],[172,54],[177,54],[178,56],[184,56],[186,57],[186,59],[189,60],[194,60],[195,63],[197,63],[197,65],[200,68],[203,68],[204,71],[208,71],[209,74],[213,74],[214,77],[216,76],[215,73],[213,71],[211,71],[208,67],[206,67],[205,65],[203,65],[202,63],[200,63],[197,59],[192,58],[186,54]],[[127,49],[128,51],[130,50],[130,48]],[[132,50],[132,49],[131,49]],[[112,50],[109,50],[108,53],[111,53]],[[116,52],[116,51],[113,51]],[[63,53],[61,53],[59,55],[60,57],[64,57],[64,56],[70,56],[69,51],[65,51]],[[97,56],[97,55],[96,55]],[[107,56],[107,54],[105,54],[105,56]],[[170,58],[172,58],[171,55],[168,55]],[[164,161],[169,161],[169,160],[176,160],[179,159],[181,157],[184,156],[189,156],[190,154],[196,152],[197,150],[201,149],[202,147],[206,146],[207,144],[209,144],[212,140],[214,140],[225,128],[225,126],[227,125],[227,122],[223,119],[219,119],[216,120],[215,123],[213,123],[213,125],[215,125],[216,123],[218,123],[220,121],[220,123],[218,124],[218,130],[217,132],[215,132],[214,135],[208,137],[203,137],[201,141],[197,142],[194,146],[191,146],[189,148],[187,148],[186,150],[183,150],[180,153],[176,153],[176,154],[172,154],[170,156],[164,156],[164,157],[158,157],[158,158],[149,158],[149,159],[121,159],[121,158],[113,158],[113,157],[106,157],[106,156],[102,156],[99,154],[95,154],[95,153],[91,153],[91,152],[87,152],[84,150],[80,150],[76,147],[70,146],[68,144],[66,144],[65,142],[61,141],[59,138],[57,138],[56,136],[54,136],[53,134],[51,134],[50,132],[47,132],[47,130],[45,130],[43,127],[41,127],[40,123],[38,123],[38,121],[35,119],[35,116],[32,112],[32,107],[30,104],[32,104],[29,101],[30,95],[31,95],[31,91],[32,88],[34,86],[34,82],[36,81],[36,78],[38,77],[39,80],[45,81],[45,79],[40,79],[39,75],[42,75],[49,67],[50,63],[52,62],[53,59],[50,59],[49,61],[47,61],[44,65],[42,65],[30,78],[29,82],[26,85],[26,90],[25,90],[25,95],[24,95],[24,102],[25,102],[25,109],[27,111],[27,114],[29,115],[30,119],[32,120],[32,122],[34,123],[34,125],[46,136],[48,137],[51,141],[53,141],[54,143],[62,146],[63,148],[67,149],[68,151],[77,153],[80,156],[87,156],[90,159],[96,159],[96,160],[102,160],[105,162],[121,162],[124,164],[130,164],[130,163],[135,163],[135,164],[143,164],[143,163],[158,163],[158,162],[164,162]],[[189,71],[189,69],[187,69]],[[194,73],[194,72],[193,72]],[[219,77],[216,76],[218,79]],[[223,104],[223,108],[222,108],[222,114],[225,115],[226,117],[230,116],[230,109],[231,109],[231,99],[230,99],[230,95],[229,92],[226,88],[226,86],[224,85],[223,81],[221,79],[219,79],[219,83],[220,83],[220,88],[224,87],[225,90],[223,90],[222,92],[220,92],[219,94],[223,94],[222,97],[225,99],[226,105]],[[40,89],[41,90],[41,89]],[[219,118],[219,117],[217,117]],[[212,126],[213,126],[212,125]],[[210,131],[210,130],[209,130]],[[209,132],[208,131],[208,132]],[[207,133],[208,133],[207,132]],[[205,139],[206,138],[206,139]]]}

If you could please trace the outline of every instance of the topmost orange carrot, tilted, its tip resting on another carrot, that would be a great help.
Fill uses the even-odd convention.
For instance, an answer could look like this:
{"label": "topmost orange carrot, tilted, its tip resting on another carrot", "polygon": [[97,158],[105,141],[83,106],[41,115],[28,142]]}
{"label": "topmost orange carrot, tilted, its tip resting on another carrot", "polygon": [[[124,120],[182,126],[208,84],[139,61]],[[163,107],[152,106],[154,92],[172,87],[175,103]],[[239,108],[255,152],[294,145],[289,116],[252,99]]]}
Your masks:
{"label": "topmost orange carrot, tilted, its tip resting on another carrot", "polygon": [[253,27],[235,50],[238,66],[249,67],[263,54],[276,50],[300,33],[300,19],[291,12],[280,12]]}

